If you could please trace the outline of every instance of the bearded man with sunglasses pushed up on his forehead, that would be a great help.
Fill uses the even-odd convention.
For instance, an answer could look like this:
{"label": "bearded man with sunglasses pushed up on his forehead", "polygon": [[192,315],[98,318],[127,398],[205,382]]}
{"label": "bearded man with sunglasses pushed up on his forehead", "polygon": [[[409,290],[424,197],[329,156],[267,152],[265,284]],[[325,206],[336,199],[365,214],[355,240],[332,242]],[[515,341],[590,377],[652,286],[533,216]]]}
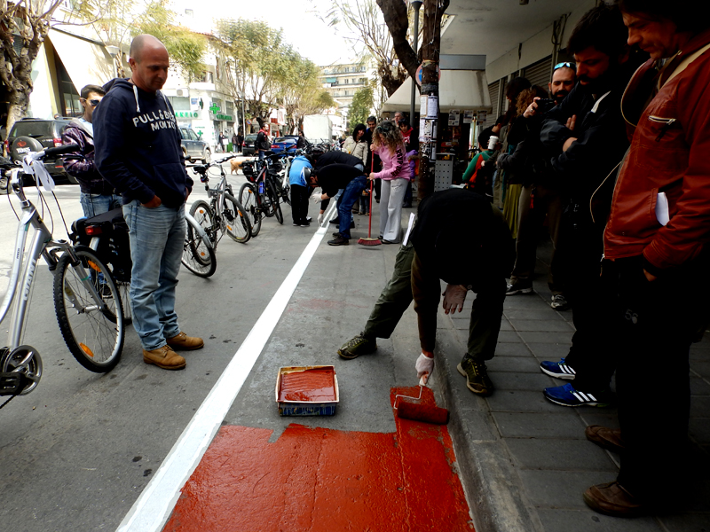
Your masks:
{"label": "bearded man with sunglasses pushed up on his forehead", "polygon": [[[552,73],[552,82],[548,83],[551,102],[559,105],[570,93],[574,86],[576,74],[574,63],[559,63]],[[537,135],[531,130],[531,135]],[[537,136],[539,138],[539,135]],[[518,227],[516,239],[516,263],[510,274],[510,285],[506,295],[516,293],[533,293],[533,273],[535,270],[538,236],[540,228],[548,218],[548,230],[552,239],[553,253],[549,264],[548,286],[552,293],[550,307],[555,310],[568,309],[567,298],[564,294],[564,269],[560,267],[559,255],[554,250],[559,246],[560,222],[562,219],[563,194],[557,186],[556,172],[550,172],[548,165],[544,164],[544,150],[538,148],[537,139],[524,140],[518,146],[524,152],[522,144],[530,145],[525,149],[525,159],[519,158],[527,167],[533,167],[534,183],[524,184],[518,203]],[[530,153],[530,152],[534,153]],[[533,157],[535,159],[533,159]],[[509,156],[508,156],[509,157]],[[536,162],[536,160],[538,160]]]}

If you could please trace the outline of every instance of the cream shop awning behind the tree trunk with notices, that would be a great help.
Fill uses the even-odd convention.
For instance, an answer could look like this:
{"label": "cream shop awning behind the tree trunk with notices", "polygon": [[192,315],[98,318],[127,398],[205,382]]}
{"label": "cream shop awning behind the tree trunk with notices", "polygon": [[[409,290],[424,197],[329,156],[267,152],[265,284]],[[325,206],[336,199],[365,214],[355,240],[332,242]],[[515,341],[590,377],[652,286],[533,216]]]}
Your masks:
{"label": "cream shop awning behind the tree trunk with notices", "polygon": [[[438,82],[438,106],[441,113],[452,109],[491,111],[491,96],[483,70],[442,70]],[[409,111],[412,78],[405,82],[383,104],[383,111]],[[419,110],[419,91],[415,92],[414,109]]]}

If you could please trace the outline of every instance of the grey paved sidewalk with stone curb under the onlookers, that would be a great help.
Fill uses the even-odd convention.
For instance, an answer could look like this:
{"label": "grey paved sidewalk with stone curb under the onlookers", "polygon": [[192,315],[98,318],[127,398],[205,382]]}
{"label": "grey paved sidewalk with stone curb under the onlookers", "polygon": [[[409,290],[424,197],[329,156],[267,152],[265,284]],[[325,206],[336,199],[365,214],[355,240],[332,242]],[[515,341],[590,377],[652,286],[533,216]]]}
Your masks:
{"label": "grey paved sidewalk with stone curb under the onlookers", "polygon": [[[548,248],[539,250],[545,261]],[[539,273],[547,265],[538,261]],[[548,402],[542,388],[564,381],[540,372],[540,361],[559,360],[571,345],[572,311],[548,306],[547,275],[530,295],[509,296],[495,358],[487,364],[496,387],[487,398],[469,392],[456,371],[465,353],[470,305],[454,316],[439,311],[437,372],[444,406],[452,412],[461,477],[478,532],[710,530],[710,337],[690,351],[690,438],[697,473],[694,496],[682,514],[611,518],[588,509],[582,493],[613,481],[619,456],[588,442],[588,425],[618,427],[613,408],[568,408]],[[662,401],[662,386],[651,385],[649,408]],[[659,457],[663,459],[663,457]],[[668,487],[673,489],[673,487]]]}

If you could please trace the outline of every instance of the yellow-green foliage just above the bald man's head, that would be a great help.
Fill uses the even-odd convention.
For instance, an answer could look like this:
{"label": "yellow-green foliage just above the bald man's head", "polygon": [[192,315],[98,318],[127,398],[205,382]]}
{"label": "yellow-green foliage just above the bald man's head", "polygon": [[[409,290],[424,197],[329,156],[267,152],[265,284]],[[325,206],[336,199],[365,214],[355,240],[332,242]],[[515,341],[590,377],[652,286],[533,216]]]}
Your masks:
{"label": "yellow-green foliage just above the bald man's head", "polygon": [[174,23],[175,13],[160,2],[146,7],[145,14],[133,27],[133,36],[148,34],[160,39],[170,54],[170,62],[176,64],[192,81],[199,78],[205,69],[202,56],[207,51],[207,38]]}

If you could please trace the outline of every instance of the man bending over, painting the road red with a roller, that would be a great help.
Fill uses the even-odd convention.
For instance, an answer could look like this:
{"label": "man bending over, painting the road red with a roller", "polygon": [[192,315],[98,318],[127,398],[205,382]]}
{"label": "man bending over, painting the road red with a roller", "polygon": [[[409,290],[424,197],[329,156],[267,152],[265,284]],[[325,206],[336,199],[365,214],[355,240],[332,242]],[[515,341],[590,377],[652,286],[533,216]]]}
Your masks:
{"label": "man bending over, painting the road red with a roller", "polygon": [[[469,290],[471,309],[467,353],[458,369],[477,395],[491,395],[485,361],[493,358],[501,330],[506,275],[515,260],[513,239],[501,213],[475,192],[451,189],[422,200],[411,241],[402,246],[390,282],[375,303],[365,330],[338,350],[345,359],[375,352],[376,338],[389,338],[414,299],[422,355],[418,377],[431,375],[437,332],[440,280],[446,281],[446,314],[463,309]],[[410,278],[411,274],[411,278]]]}

